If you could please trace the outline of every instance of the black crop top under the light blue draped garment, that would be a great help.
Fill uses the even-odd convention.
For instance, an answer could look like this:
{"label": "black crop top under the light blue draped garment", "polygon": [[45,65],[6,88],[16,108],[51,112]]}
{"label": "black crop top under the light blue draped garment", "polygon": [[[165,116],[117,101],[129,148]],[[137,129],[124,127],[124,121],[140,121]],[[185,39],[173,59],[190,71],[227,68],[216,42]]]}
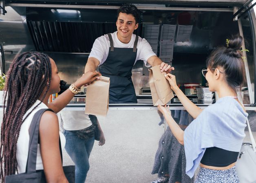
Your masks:
{"label": "black crop top under the light blue draped garment", "polygon": [[217,147],[206,148],[201,163],[207,166],[225,167],[236,162],[238,153]]}

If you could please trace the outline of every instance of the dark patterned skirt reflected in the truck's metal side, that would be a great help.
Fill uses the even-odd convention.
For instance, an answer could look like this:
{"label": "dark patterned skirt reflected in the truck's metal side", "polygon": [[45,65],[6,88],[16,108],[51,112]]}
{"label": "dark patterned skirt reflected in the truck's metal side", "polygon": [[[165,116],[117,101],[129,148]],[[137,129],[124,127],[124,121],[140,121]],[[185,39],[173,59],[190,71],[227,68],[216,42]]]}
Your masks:
{"label": "dark patterned skirt reflected in the truck's metal side", "polygon": [[[171,111],[171,113],[178,124],[188,125],[191,122],[187,111],[175,110]],[[168,124],[166,125],[168,126]],[[166,132],[159,140],[152,174],[158,174],[158,177],[170,174],[169,183],[193,183],[194,177],[190,179],[185,169],[186,158],[184,146],[178,142],[168,126]]]}

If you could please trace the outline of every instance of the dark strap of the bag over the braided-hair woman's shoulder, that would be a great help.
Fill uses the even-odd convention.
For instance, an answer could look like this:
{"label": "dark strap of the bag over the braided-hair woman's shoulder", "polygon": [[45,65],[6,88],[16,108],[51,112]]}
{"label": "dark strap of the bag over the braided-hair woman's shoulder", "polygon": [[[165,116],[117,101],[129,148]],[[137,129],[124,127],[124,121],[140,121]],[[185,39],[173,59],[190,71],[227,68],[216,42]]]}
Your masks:
{"label": "dark strap of the bag over the braided-hair woman's shoulder", "polygon": [[[40,109],[33,116],[32,122],[29,126],[29,154],[26,162],[26,173],[36,172],[36,158],[38,153],[38,139],[39,139],[39,124],[42,114],[45,111],[52,111],[51,109]],[[59,138],[60,144],[60,138]],[[62,159],[62,150],[60,144],[60,154]]]}

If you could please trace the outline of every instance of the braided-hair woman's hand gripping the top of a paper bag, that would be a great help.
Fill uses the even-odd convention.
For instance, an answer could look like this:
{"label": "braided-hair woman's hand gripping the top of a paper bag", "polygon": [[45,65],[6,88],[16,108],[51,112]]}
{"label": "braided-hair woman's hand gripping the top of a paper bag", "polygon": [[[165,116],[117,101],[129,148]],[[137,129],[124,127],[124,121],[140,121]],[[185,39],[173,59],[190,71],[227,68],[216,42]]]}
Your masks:
{"label": "braided-hair woman's hand gripping the top of a paper bag", "polygon": [[77,81],[75,82],[75,86],[80,88],[83,85],[89,85],[90,83],[92,83],[93,81],[95,81],[96,79],[99,79],[99,77],[97,76],[101,76],[102,74],[100,74],[97,71],[88,71],[85,74],[82,75],[81,78],[77,79]]}

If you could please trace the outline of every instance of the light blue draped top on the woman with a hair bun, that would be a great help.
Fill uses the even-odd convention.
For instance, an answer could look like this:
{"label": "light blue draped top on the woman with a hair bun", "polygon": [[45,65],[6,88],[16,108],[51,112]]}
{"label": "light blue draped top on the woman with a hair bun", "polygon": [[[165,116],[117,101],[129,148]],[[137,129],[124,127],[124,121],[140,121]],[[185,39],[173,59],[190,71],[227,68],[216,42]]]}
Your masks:
{"label": "light blue draped top on the woman with a hair bun", "polygon": [[247,116],[234,98],[223,97],[191,122],[184,132],[186,174],[190,178],[194,176],[206,148],[240,151]]}

